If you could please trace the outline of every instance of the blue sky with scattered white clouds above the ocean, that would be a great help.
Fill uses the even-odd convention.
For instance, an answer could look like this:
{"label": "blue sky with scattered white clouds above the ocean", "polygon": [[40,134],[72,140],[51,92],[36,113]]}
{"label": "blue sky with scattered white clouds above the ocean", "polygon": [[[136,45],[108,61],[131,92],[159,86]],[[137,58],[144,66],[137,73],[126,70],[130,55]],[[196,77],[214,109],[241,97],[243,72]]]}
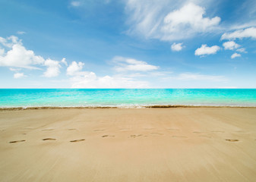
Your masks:
{"label": "blue sky with scattered white clouds above the ocean", "polygon": [[0,88],[256,88],[255,0],[0,0]]}

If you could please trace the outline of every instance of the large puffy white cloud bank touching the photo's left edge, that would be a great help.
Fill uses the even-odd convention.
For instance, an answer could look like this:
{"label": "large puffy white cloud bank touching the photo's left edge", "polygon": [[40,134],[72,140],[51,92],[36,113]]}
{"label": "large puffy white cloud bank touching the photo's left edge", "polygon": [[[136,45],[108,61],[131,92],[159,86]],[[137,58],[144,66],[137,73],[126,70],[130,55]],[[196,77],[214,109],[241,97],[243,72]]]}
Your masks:
{"label": "large puffy white cloud bank touching the photo's left edge", "polygon": [[17,36],[9,36],[6,39],[0,37],[0,44],[8,49],[7,52],[5,52],[5,49],[0,50],[0,66],[3,67],[41,69],[40,67],[45,66],[47,68],[43,76],[56,77],[60,73],[60,64],[67,64],[65,58],[62,61],[54,61],[50,58],[45,60],[42,56],[36,55],[32,50],[27,50]]}

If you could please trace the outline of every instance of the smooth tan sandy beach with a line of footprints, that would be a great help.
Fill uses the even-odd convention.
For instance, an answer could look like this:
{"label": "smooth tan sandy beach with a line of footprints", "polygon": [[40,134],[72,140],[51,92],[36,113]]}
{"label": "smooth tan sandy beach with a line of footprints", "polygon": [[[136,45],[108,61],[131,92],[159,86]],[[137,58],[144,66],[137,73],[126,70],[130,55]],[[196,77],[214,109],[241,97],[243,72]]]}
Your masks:
{"label": "smooth tan sandy beach with a line of footprints", "polygon": [[2,181],[255,181],[256,108],[0,111]]}

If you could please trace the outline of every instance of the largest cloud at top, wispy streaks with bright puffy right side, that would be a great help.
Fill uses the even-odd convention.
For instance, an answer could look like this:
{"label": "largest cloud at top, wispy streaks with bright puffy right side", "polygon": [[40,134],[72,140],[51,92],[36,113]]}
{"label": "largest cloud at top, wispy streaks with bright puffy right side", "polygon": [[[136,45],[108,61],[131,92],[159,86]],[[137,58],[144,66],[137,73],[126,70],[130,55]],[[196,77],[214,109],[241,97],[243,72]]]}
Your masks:
{"label": "largest cloud at top, wispy streaks with bright puffy right side", "polygon": [[216,30],[220,17],[204,17],[205,8],[193,1],[184,2],[128,0],[128,33],[172,41]]}

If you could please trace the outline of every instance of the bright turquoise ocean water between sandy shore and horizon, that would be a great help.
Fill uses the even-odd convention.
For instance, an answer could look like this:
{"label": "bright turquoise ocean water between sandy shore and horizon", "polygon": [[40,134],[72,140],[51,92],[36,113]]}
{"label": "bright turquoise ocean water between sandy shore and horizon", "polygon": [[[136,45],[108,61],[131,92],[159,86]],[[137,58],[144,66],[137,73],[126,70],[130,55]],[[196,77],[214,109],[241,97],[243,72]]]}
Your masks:
{"label": "bright turquoise ocean water between sandy shore and horizon", "polygon": [[0,108],[256,106],[256,89],[0,89]]}

